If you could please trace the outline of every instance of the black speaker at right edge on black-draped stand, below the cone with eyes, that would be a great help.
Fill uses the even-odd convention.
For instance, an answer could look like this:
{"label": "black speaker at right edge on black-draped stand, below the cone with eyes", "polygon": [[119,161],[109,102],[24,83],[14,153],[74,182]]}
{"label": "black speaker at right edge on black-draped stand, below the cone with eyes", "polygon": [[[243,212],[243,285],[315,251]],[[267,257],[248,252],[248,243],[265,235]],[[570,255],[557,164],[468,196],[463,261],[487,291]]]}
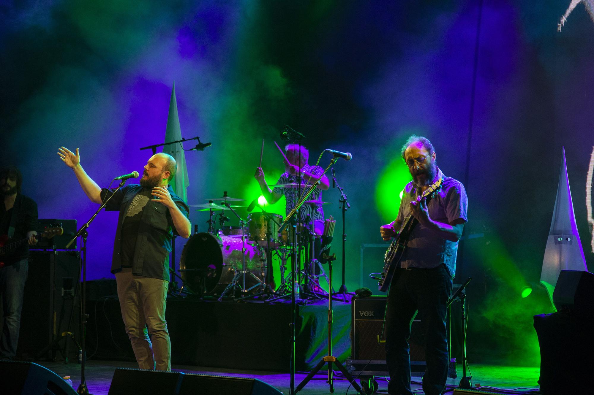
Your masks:
{"label": "black speaker at right edge on black-draped stand, below the cone with eyes", "polygon": [[583,270],[561,270],[553,302],[558,311],[594,314],[594,274]]}

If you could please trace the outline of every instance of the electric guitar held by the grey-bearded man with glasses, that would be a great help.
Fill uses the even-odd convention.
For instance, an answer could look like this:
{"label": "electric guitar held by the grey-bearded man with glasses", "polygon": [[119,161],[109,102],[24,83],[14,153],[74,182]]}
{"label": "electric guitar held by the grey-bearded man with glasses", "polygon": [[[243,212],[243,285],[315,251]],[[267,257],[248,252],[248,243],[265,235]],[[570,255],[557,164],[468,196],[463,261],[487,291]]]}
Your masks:
{"label": "electric guitar held by the grey-bearded man with glasses", "polygon": [[[426,201],[428,202],[429,199],[434,197],[434,193],[441,188],[442,182],[443,177],[440,177],[440,179],[432,183],[423,195],[416,199],[416,201],[420,203],[422,198],[427,198]],[[412,232],[413,228],[415,228],[415,225],[418,223],[419,221],[414,216],[407,216],[402,222],[400,230],[396,236],[394,236],[394,240],[392,240],[392,243],[384,256],[384,269],[382,270],[381,278],[378,281],[378,288],[381,292],[386,292],[390,287],[390,282],[394,276],[396,266],[400,262],[400,259],[402,259],[402,255],[405,251],[406,242],[408,241],[410,232]]]}

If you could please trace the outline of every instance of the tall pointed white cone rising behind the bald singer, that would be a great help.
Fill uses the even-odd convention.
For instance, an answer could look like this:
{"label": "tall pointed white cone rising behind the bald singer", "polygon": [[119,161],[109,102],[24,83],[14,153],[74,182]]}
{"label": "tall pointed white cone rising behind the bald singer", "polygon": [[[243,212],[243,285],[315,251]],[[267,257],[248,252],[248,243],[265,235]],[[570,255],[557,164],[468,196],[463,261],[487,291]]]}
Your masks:
{"label": "tall pointed white cone rising behind the bald singer", "polygon": [[[175,98],[175,82],[171,90],[171,100],[169,101],[169,116],[167,118],[167,130],[165,132],[165,142],[178,141],[182,139],[182,131],[179,126],[178,101]],[[184,202],[188,201],[187,188],[189,185],[188,168],[185,163],[185,151],[182,149],[182,143],[163,146],[163,152],[171,155],[178,163],[178,171],[169,183]]]}

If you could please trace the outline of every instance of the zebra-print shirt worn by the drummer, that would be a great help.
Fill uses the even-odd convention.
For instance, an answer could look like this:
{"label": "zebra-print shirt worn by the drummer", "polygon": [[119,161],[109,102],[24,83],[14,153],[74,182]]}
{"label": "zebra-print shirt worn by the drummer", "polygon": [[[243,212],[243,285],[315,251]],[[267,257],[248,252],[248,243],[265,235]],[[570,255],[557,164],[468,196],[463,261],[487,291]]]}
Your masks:
{"label": "zebra-print shirt worn by the drummer", "polygon": [[[324,173],[324,169],[320,166],[310,166],[305,165],[303,170],[307,171],[309,174],[313,174],[316,177],[320,177],[322,173]],[[277,184],[288,184],[288,183],[298,183],[298,177],[293,176],[287,172],[281,174]],[[301,182],[304,183],[303,187],[301,188],[301,194],[304,195],[311,185],[305,184],[305,180],[301,179]],[[285,187],[274,187],[272,190],[273,193],[277,193],[279,195],[285,195],[287,200],[287,206],[285,210],[285,215],[289,214],[291,210],[297,205],[299,202],[299,188],[285,188]],[[318,187],[315,187],[314,192],[309,195],[307,200],[322,200],[322,190]],[[322,205],[302,205],[299,209],[299,222],[304,223],[307,220],[307,216],[309,215],[309,221],[319,219],[320,221],[324,221],[324,210],[322,209]]]}

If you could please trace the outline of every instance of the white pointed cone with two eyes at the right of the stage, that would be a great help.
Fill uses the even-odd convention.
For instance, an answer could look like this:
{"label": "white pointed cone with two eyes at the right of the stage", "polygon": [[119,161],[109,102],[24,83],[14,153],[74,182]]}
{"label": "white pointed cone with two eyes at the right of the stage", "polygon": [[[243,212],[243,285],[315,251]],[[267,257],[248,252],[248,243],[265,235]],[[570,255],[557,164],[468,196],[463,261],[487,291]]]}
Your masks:
{"label": "white pointed cone with two eyes at the right of the stage", "polygon": [[542,260],[541,283],[548,291],[551,301],[561,270],[587,271],[582,241],[577,232],[576,216],[571,201],[567,164],[565,163],[565,147],[563,147],[563,163],[561,163],[559,173],[559,186],[557,187],[551,230],[546,240],[545,257]]}

